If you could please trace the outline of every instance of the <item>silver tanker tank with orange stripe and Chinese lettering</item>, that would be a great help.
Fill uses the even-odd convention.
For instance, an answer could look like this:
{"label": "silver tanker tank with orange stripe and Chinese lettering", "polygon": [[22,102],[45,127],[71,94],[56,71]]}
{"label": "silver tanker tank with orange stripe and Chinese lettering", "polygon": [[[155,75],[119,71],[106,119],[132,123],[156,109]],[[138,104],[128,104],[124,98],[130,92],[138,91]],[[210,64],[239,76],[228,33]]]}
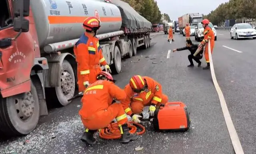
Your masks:
{"label": "silver tanker tank with orange stripe and Chinese lettering", "polygon": [[101,27],[97,34],[119,31],[120,10],[104,0],[30,0],[40,48],[50,43],[78,39],[85,18],[95,16]]}

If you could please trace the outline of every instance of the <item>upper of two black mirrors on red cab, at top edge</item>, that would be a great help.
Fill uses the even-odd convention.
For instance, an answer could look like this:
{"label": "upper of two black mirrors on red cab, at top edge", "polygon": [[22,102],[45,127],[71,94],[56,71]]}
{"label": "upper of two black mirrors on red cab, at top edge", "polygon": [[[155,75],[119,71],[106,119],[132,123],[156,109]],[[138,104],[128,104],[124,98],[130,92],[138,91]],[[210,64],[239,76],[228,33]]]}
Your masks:
{"label": "upper of two black mirrors on red cab, at top edge", "polygon": [[13,0],[14,16],[29,16],[30,0]]}

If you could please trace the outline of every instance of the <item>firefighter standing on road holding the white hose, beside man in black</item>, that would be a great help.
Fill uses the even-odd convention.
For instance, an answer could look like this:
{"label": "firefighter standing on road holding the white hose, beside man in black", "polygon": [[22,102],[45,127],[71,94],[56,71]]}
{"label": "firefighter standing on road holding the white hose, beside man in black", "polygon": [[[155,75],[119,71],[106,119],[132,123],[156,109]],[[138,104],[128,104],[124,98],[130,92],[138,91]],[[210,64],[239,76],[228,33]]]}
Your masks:
{"label": "firefighter standing on road holding the white hose, beside man in black", "polygon": [[[206,46],[204,48],[204,57],[207,63],[207,66],[203,67],[204,70],[207,70],[210,68],[210,60],[209,60],[209,55],[208,55],[208,42],[210,41],[210,49],[211,49],[211,53],[213,51],[214,48],[214,32],[212,31],[212,28],[208,25],[210,23],[210,21],[208,19],[203,19],[203,21],[201,22],[203,27],[204,27],[204,39],[203,41],[200,43],[200,45],[198,46],[199,48],[203,48],[204,46]],[[194,54],[194,56],[196,56],[197,52]]]}

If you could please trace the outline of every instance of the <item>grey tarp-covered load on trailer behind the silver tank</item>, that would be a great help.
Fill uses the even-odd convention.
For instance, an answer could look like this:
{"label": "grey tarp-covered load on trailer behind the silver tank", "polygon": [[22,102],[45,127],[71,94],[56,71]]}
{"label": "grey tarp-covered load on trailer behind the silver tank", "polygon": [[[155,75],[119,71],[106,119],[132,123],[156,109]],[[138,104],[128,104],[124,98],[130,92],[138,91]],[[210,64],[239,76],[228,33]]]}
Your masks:
{"label": "grey tarp-covered load on trailer behind the silver tank", "polygon": [[121,0],[111,0],[115,4],[122,15],[122,27],[129,29],[149,28],[151,30],[152,23],[140,16],[128,3]]}

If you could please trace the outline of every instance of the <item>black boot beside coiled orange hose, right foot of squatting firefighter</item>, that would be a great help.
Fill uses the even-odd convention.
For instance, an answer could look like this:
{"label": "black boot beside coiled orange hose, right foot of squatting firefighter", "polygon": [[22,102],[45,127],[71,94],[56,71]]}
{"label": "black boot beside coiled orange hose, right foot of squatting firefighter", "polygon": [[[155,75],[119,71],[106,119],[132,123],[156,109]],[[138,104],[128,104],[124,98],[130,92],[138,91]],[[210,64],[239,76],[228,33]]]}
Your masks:
{"label": "black boot beside coiled orange hose, right foot of squatting firefighter", "polygon": [[129,128],[127,124],[122,125],[121,127],[119,127],[122,138],[121,138],[121,143],[128,143],[132,140],[137,140],[138,139],[138,135],[137,133],[131,134],[129,133]]}

